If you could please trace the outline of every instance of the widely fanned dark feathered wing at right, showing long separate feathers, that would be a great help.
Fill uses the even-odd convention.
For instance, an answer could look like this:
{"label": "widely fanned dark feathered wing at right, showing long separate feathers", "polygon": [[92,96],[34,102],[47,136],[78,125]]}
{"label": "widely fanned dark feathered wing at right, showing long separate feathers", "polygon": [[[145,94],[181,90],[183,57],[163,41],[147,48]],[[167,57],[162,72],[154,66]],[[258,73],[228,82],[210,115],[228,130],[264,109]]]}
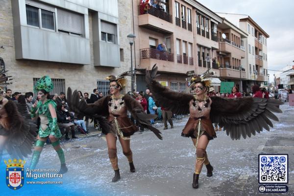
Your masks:
{"label": "widely fanned dark feathered wing at right, showing long separate feathers", "polygon": [[[282,113],[279,105],[283,102],[267,98],[219,98],[211,97],[210,119],[219,123],[230,135],[232,140],[251,137],[265,128],[270,131],[273,127],[270,119],[279,121],[272,113]],[[269,127],[270,126],[270,127]]]}

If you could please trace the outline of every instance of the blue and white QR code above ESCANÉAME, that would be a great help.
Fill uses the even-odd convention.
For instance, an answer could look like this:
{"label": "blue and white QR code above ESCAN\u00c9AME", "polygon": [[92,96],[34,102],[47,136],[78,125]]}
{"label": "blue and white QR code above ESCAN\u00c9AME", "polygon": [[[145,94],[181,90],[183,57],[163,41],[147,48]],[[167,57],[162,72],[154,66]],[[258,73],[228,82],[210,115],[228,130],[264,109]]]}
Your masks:
{"label": "blue and white QR code above ESCAN\u00c9AME", "polygon": [[288,183],[288,154],[259,154],[259,183]]}

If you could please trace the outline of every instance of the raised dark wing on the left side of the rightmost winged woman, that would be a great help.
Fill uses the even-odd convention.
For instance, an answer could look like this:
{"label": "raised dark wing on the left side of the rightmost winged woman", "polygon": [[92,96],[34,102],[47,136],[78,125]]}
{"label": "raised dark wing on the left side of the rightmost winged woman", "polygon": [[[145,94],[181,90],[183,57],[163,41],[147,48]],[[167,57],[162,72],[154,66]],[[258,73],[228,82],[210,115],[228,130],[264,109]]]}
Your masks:
{"label": "raised dark wing on the left side of the rightmost winged woman", "polygon": [[[147,88],[153,94],[160,106],[169,108],[173,114],[188,114],[189,102],[194,99],[193,95],[172,91],[154,80],[157,76],[156,64],[152,70],[146,71]],[[148,100],[147,100],[148,101]]]}

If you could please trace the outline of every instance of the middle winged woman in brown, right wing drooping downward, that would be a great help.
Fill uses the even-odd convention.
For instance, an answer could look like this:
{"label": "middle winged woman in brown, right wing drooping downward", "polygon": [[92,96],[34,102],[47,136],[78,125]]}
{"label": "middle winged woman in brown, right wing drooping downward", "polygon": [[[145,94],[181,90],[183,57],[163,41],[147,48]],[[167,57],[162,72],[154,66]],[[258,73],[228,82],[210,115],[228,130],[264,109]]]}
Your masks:
{"label": "middle winged woman in brown, right wing drooping downward", "polygon": [[[143,107],[136,99],[128,94],[121,94],[127,82],[125,76],[129,74],[130,72],[125,72],[117,77],[114,75],[108,76],[107,79],[110,81],[111,95],[100,98],[93,104],[79,101],[77,91],[74,91],[72,95],[70,88],[68,89],[67,95],[72,111],[91,116],[92,118],[98,118],[100,125],[102,125],[102,132],[106,134],[109,160],[115,172],[112,182],[116,182],[121,178],[116,148],[117,138],[119,138],[123,148],[123,154],[129,162],[130,172],[135,172],[133,155],[130,148],[130,136],[137,131],[137,126],[127,117],[127,110],[131,112],[136,122],[150,129],[159,139],[162,139],[160,131],[152,127],[149,123],[150,119],[156,118],[156,115],[145,114]],[[107,120],[103,121],[103,117],[101,116],[107,117]]]}

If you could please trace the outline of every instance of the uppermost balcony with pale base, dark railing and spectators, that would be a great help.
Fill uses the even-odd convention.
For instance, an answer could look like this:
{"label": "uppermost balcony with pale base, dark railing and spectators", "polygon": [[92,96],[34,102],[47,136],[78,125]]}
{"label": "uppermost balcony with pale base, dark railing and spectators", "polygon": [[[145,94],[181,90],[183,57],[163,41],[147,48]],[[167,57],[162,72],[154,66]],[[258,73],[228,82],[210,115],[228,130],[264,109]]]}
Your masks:
{"label": "uppermost balcony with pale base, dark railing and spectators", "polygon": [[143,9],[141,5],[139,5],[138,25],[163,34],[172,34],[174,28],[172,15],[152,6]]}

